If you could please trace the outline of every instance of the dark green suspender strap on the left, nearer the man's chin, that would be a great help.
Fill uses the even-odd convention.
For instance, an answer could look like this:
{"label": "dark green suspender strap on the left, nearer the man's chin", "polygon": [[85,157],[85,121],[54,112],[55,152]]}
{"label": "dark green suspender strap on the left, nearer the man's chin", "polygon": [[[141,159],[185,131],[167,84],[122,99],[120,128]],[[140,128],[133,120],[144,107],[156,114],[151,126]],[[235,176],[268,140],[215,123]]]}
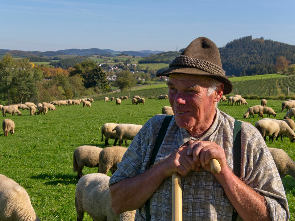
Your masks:
{"label": "dark green suspender strap on the left, nearer the man's chin", "polygon": [[[164,121],[161,125],[161,128],[159,130],[159,133],[158,133],[158,137],[156,139],[156,143],[155,143],[155,146],[154,146],[154,149],[153,149],[153,152],[152,152],[152,157],[151,157],[151,160],[150,160],[150,163],[149,163],[149,166],[148,167],[151,167],[154,162],[155,162],[155,159],[156,159],[156,156],[157,156],[157,153],[160,149],[160,146],[164,140],[164,137],[165,137],[165,134],[166,134],[166,131],[167,131],[167,128],[170,124],[170,121],[172,120],[172,117],[173,115],[167,115],[165,118],[164,118]],[[147,202],[145,203],[145,208],[146,208],[146,216],[147,216],[147,221],[150,221],[151,220],[151,208],[150,208],[150,199],[147,200]]]}

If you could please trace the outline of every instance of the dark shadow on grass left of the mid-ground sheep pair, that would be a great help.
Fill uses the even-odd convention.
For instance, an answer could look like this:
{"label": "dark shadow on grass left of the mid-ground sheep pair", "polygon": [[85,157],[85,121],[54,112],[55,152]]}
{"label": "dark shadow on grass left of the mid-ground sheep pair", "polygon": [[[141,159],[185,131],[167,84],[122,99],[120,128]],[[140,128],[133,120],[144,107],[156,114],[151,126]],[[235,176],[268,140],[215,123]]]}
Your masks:
{"label": "dark shadow on grass left of the mid-ground sheep pair", "polygon": [[45,185],[67,185],[67,184],[77,184],[77,175],[69,174],[39,174],[37,176],[31,176],[32,179],[43,179],[49,180],[45,181]]}

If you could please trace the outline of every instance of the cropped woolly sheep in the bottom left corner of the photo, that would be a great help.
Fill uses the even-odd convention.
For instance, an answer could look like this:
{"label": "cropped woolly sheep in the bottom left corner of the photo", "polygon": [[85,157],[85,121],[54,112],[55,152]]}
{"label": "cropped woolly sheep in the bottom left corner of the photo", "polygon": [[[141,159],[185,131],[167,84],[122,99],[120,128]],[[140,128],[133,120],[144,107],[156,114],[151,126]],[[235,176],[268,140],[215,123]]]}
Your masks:
{"label": "cropped woolly sheep in the bottom left corner of the photo", "polygon": [[0,220],[40,221],[27,191],[2,174],[0,174]]}

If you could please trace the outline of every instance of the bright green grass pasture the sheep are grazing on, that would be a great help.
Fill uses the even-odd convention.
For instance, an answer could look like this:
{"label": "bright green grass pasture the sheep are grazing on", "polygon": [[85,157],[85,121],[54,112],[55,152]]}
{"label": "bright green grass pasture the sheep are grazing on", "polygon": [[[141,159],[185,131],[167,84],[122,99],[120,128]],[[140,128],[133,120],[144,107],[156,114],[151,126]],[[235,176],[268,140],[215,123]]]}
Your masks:
{"label": "bright green grass pasture the sheep are grazing on", "polygon": [[[155,88],[147,89],[154,90]],[[131,91],[132,92],[132,91]],[[132,92],[131,96],[140,92]],[[157,93],[155,97],[158,97]],[[120,94],[120,96],[128,93]],[[110,96],[111,97],[111,96]],[[143,125],[156,113],[161,113],[168,100],[148,99],[145,104],[132,105],[131,99],[123,100],[121,105],[104,102],[94,97],[92,107],[82,105],[57,107],[47,115],[30,116],[28,110],[21,110],[21,116],[10,116],[15,122],[15,134],[0,135],[0,174],[14,179],[23,186],[41,220],[76,220],[75,189],[77,173],[73,173],[73,151],[80,145],[104,147],[101,141],[101,127],[104,123],[132,123]],[[257,114],[243,119],[248,107],[260,104],[260,100],[247,100],[248,105],[228,105],[219,103],[218,108],[237,120],[251,122],[259,120]],[[276,113],[276,119],[283,119],[279,100],[268,100],[268,106]],[[272,116],[271,116],[272,117]],[[131,141],[128,141],[130,144]],[[113,145],[113,140],[109,143]],[[295,160],[295,143],[288,137],[283,141],[266,141],[269,147],[284,149]],[[97,168],[84,167],[83,173],[96,173]],[[110,175],[110,172],[109,174]],[[291,217],[295,217],[295,181],[286,176],[282,179],[289,202]],[[85,213],[84,220],[92,220]],[[291,219],[292,220],[292,219]]]}

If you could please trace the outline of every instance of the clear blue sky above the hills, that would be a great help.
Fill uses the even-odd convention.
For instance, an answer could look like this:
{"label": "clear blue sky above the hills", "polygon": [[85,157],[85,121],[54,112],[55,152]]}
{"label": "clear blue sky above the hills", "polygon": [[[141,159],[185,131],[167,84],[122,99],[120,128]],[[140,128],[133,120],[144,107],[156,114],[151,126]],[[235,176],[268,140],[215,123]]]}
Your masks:
{"label": "clear blue sky above the hills", "polygon": [[0,49],[114,51],[218,47],[244,36],[295,45],[295,1],[1,0]]}

